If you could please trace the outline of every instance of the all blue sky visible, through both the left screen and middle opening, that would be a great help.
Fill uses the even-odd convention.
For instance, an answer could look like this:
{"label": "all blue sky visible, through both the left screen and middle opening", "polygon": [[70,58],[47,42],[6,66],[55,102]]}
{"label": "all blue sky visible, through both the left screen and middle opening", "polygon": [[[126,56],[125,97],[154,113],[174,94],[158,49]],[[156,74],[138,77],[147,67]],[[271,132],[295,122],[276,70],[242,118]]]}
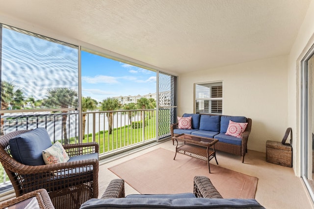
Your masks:
{"label": "all blue sky visible, through both the left screen and middle opening", "polygon": [[[82,96],[97,101],[113,96],[156,93],[156,72],[81,51]],[[1,80],[13,82],[27,97],[46,97],[49,89],[78,91],[78,48],[3,28]]]}

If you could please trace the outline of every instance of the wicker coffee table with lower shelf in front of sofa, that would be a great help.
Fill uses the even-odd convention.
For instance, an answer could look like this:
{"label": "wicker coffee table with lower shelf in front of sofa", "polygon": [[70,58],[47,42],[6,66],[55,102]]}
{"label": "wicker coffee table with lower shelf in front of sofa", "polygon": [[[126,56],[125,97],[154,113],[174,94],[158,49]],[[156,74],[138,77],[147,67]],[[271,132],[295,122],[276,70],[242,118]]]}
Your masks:
{"label": "wicker coffee table with lower shelf in front of sofa", "polygon": [[[218,139],[210,139],[188,134],[181,134],[173,137],[173,139],[177,141],[176,154],[173,160],[176,159],[177,153],[181,153],[199,160],[207,161],[209,173],[209,161],[215,158],[216,163],[218,164],[215,152],[215,143],[218,142]],[[183,145],[179,146],[178,141],[183,141]]]}

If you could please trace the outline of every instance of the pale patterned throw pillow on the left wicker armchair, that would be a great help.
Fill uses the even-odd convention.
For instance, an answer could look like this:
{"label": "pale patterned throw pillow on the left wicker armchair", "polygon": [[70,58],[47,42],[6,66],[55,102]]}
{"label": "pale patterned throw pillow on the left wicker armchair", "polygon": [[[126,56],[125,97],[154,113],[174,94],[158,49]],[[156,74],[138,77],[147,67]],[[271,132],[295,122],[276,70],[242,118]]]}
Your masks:
{"label": "pale patterned throw pillow on the left wicker armchair", "polygon": [[55,163],[66,163],[70,159],[62,144],[56,141],[51,147],[43,150],[43,159],[45,163],[55,164]]}

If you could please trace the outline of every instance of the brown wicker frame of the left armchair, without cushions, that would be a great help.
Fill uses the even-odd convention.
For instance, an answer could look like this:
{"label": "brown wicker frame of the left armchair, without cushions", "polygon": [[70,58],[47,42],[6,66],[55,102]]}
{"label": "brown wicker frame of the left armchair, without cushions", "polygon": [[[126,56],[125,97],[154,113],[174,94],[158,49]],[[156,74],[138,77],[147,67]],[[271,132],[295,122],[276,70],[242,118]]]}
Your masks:
{"label": "brown wicker frame of the left armchair, without cushions", "polygon": [[[98,197],[98,159],[36,166],[14,160],[9,140],[28,131],[14,131],[0,138],[0,161],[17,197],[45,188],[56,209],[77,209],[85,201]],[[96,142],[63,147],[69,157],[99,152]]]}

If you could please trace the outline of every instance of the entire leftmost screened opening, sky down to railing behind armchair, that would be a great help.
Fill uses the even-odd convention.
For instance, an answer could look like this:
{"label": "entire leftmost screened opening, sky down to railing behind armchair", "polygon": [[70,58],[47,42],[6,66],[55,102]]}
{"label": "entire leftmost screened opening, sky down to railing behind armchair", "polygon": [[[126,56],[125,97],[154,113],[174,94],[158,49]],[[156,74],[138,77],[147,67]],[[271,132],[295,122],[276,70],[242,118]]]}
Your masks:
{"label": "entire leftmost screened opening, sky down to railing behind armchair", "polygon": [[78,139],[78,46],[0,24],[1,135],[45,127]]}

